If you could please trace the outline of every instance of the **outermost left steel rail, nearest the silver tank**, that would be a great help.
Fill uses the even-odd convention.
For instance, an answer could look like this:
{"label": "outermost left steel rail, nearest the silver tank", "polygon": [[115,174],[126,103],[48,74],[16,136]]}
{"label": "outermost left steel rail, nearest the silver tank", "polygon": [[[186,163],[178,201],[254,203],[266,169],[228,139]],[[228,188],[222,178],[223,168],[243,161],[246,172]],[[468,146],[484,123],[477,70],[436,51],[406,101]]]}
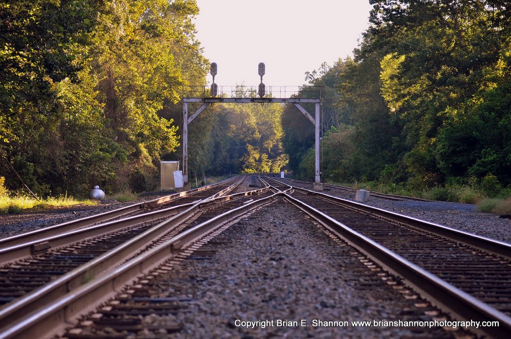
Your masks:
{"label": "outermost left steel rail, nearest the silver tank", "polygon": [[[235,178],[229,179],[229,180],[234,180]],[[86,226],[90,226],[90,225],[94,225],[94,224],[98,224],[98,223],[103,223],[103,222],[111,220],[115,217],[119,217],[119,216],[122,216],[122,215],[125,215],[128,213],[137,212],[141,209],[144,209],[146,206],[150,206],[151,204],[154,204],[154,203],[161,205],[166,202],[177,200],[182,197],[192,196],[195,193],[201,192],[203,190],[212,189],[219,185],[222,185],[226,181],[228,181],[228,180],[221,181],[221,182],[218,182],[218,183],[215,183],[212,185],[202,186],[202,187],[195,188],[195,189],[192,189],[189,191],[174,193],[169,196],[156,198],[156,199],[149,200],[149,201],[142,202],[142,203],[136,203],[136,204],[133,204],[130,206],[121,207],[121,208],[103,212],[100,214],[89,215],[89,216],[82,217],[77,220],[72,220],[72,221],[60,223],[57,225],[40,228],[38,230],[25,232],[25,233],[21,233],[21,234],[16,234],[16,235],[6,237],[6,238],[0,238],[0,248],[13,247],[13,246],[16,246],[19,244],[28,243],[29,241],[36,241],[41,238],[47,238],[47,237],[50,237],[50,236],[53,236],[56,234],[68,232],[68,231],[71,231],[71,230],[74,230],[77,228],[86,227]]]}

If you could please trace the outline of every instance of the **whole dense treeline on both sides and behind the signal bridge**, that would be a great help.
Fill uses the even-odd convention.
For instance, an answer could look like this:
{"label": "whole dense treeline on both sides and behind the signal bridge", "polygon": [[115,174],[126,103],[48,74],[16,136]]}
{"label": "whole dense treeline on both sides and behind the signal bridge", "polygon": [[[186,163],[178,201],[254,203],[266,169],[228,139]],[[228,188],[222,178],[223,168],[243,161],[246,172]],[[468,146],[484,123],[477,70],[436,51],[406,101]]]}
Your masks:
{"label": "whole dense treeline on both sides and behind the signal bridge", "polygon": [[[323,179],[489,195],[510,185],[507,2],[370,3],[354,57],[306,75],[322,86]],[[205,84],[198,10],[195,0],[3,1],[5,185],[38,195],[156,188],[159,161],[180,159],[181,86]],[[289,164],[311,179],[313,132],[294,106],[214,105],[190,126],[189,174]]]}

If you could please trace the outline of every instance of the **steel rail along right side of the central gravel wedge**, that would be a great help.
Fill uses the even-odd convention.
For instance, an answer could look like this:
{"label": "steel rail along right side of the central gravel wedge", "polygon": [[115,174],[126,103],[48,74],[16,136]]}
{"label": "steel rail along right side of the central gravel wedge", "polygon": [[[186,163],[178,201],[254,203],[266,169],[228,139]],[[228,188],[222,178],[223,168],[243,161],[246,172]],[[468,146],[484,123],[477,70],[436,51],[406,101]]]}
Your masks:
{"label": "steel rail along right side of the central gravel wedge", "polygon": [[374,240],[354,231],[329,215],[283,193],[289,202],[314,217],[324,227],[365,253],[390,273],[402,277],[422,297],[437,307],[454,314],[464,321],[498,321],[498,327],[471,328],[476,333],[492,337],[507,337],[511,333],[511,318],[493,307],[477,300],[457,287],[418,267],[400,255],[379,245]]}

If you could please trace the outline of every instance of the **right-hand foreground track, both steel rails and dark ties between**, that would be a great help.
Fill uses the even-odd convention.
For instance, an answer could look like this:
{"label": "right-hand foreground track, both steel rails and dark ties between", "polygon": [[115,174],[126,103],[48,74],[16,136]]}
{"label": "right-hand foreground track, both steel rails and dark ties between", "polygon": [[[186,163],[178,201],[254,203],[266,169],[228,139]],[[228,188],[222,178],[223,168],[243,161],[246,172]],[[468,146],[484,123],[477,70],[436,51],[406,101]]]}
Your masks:
{"label": "right-hand foreground track, both steel rails and dark ties between", "polygon": [[497,321],[476,332],[511,333],[511,245],[294,187],[286,198],[464,321]]}

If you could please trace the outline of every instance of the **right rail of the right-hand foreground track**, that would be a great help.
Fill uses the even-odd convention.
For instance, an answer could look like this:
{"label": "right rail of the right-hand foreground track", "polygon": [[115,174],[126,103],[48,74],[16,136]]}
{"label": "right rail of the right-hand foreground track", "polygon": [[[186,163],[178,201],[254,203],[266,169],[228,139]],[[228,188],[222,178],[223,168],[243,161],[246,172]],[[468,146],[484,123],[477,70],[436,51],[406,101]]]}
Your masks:
{"label": "right rail of the right-hand foreground track", "polygon": [[305,192],[308,195],[315,195],[321,197],[324,200],[335,202],[340,205],[344,205],[350,208],[354,208],[366,213],[378,215],[392,221],[397,221],[408,226],[415,227],[417,229],[434,233],[451,240],[457,241],[458,243],[464,243],[486,252],[494,253],[496,255],[511,259],[511,244],[504,243],[490,238],[486,238],[481,235],[472,234],[460,230],[456,230],[447,226],[438,225],[435,223],[427,222],[414,217],[399,214],[396,212],[386,211],[377,207],[372,207],[364,204],[360,204],[354,201],[345,200],[342,198],[332,197],[324,193],[312,191],[305,188],[295,187],[295,190]]}

